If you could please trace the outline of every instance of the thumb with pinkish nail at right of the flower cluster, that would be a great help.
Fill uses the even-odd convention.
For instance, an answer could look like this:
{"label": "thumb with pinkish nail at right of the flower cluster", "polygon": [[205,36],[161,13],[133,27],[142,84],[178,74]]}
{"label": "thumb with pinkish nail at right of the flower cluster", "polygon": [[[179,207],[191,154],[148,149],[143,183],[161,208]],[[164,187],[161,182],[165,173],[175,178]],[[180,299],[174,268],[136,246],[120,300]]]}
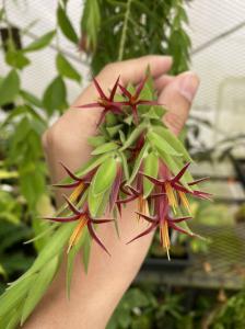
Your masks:
{"label": "thumb with pinkish nail at right of the flower cluster", "polygon": [[176,135],[186,123],[198,86],[198,77],[187,71],[174,78],[159,95],[159,102],[168,110],[163,122]]}

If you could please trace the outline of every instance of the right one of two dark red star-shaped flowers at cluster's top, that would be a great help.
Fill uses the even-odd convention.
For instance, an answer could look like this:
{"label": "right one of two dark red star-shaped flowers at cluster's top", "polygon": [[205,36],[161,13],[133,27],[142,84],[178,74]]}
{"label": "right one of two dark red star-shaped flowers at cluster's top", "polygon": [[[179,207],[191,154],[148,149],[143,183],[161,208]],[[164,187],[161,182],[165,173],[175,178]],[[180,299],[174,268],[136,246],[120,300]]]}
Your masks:
{"label": "right one of two dark red star-shaped flowers at cluster's top", "polygon": [[132,115],[133,115],[136,124],[139,123],[138,110],[137,110],[138,105],[159,105],[159,103],[156,101],[140,99],[140,93],[141,93],[147,80],[148,80],[148,76],[140,82],[135,94],[131,94],[125,87],[122,87],[120,83],[118,83],[124,97],[128,99],[126,102],[120,102],[120,104],[131,106]]}

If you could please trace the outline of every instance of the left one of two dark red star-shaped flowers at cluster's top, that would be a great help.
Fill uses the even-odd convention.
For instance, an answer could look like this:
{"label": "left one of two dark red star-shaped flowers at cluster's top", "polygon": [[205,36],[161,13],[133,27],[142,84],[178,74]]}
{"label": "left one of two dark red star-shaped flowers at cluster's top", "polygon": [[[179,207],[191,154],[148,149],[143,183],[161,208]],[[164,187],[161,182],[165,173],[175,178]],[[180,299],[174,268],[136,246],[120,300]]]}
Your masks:
{"label": "left one of two dark red star-shaped flowers at cluster's top", "polygon": [[98,84],[98,82],[95,78],[93,79],[93,81],[94,81],[95,88],[96,88],[96,90],[100,94],[100,98],[98,98],[97,102],[85,104],[85,105],[80,105],[78,107],[80,107],[80,109],[102,107],[103,111],[102,111],[101,117],[100,117],[98,123],[97,123],[97,126],[100,126],[101,123],[104,121],[105,115],[108,112],[113,112],[113,113],[116,113],[116,114],[122,113],[120,102],[115,102],[114,101],[114,97],[115,97],[115,93],[116,93],[116,90],[117,90],[117,87],[118,87],[118,82],[119,82],[119,77],[117,78],[117,81],[115,82],[115,84],[114,84],[114,87],[110,91],[109,97],[107,97],[104,93],[104,91],[102,90],[102,88],[100,87],[100,84]]}

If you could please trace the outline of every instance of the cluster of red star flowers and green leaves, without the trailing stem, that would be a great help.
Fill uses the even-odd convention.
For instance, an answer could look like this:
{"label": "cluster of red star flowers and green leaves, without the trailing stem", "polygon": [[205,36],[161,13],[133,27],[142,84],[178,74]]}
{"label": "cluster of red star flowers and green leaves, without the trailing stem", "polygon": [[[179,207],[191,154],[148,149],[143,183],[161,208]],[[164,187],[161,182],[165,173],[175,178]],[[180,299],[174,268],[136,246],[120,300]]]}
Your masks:
{"label": "cluster of red star flowers and green leaves, without the trailing stem", "polygon": [[[78,174],[62,164],[68,179],[55,185],[73,189],[69,197],[65,196],[61,215],[47,217],[58,223],[78,222],[68,251],[88,227],[91,238],[109,254],[94,226],[116,223],[122,205],[132,201],[138,202],[136,217],[149,226],[128,243],[159,228],[161,245],[170,258],[171,230],[197,236],[187,225],[192,218],[189,197],[210,200],[211,195],[198,188],[207,178],[192,180],[188,171],[191,159],[177,137],[163,125],[162,106],[155,101],[149,80],[147,76],[133,88],[121,86],[118,77],[106,95],[93,79],[97,101],[79,106],[100,107],[102,113],[97,124],[100,134],[90,140],[94,147],[92,159]],[[104,214],[113,218],[104,218]]]}

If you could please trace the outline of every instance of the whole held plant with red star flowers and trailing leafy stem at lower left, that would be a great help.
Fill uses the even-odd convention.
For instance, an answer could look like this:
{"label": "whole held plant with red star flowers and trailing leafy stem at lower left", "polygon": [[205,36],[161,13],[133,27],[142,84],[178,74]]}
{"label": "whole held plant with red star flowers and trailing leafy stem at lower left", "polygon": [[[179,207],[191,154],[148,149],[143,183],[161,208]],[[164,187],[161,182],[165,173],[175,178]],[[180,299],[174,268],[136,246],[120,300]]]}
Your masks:
{"label": "whole held plant with red star flowers and trailing leafy stem at lower left", "polygon": [[149,224],[138,236],[128,237],[128,243],[159,229],[161,245],[170,259],[172,230],[199,237],[187,224],[191,218],[189,197],[209,200],[211,195],[199,190],[198,184],[205,179],[192,180],[188,151],[164,126],[162,116],[166,110],[155,100],[150,73],[137,88],[122,87],[118,78],[109,95],[96,79],[94,84],[97,101],[77,110],[102,109],[98,134],[89,140],[93,146],[92,157],[77,173],[62,164],[68,175],[55,186],[71,193],[63,195],[65,203],[56,216],[43,219],[54,224],[48,228],[49,240],[34,264],[0,297],[2,319],[15,318],[16,324],[26,320],[54,279],[65,246],[69,294],[72,264],[79,250],[86,250],[86,269],[91,241],[110,254],[96,235],[96,226],[117,227],[124,204],[137,200],[131,220]]}

